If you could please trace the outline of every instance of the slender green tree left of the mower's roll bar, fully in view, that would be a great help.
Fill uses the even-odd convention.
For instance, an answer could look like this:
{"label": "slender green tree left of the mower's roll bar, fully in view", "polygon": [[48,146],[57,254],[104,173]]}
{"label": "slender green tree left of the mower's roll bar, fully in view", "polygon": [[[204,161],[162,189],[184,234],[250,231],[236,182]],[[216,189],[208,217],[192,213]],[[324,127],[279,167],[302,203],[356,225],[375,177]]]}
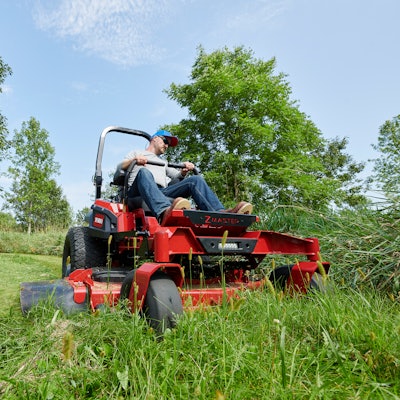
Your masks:
{"label": "slender green tree left of the mower's roll bar, fully in view", "polygon": [[8,174],[12,184],[3,208],[12,211],[28,233],[49,227],[64,228],[72,220],[71,207],[52,178],[59,174],[60,167],[54,161],[55,150],[48,139],[48,132],[32,117],[19,132],[15,131],[11,141],[12,166]]}

